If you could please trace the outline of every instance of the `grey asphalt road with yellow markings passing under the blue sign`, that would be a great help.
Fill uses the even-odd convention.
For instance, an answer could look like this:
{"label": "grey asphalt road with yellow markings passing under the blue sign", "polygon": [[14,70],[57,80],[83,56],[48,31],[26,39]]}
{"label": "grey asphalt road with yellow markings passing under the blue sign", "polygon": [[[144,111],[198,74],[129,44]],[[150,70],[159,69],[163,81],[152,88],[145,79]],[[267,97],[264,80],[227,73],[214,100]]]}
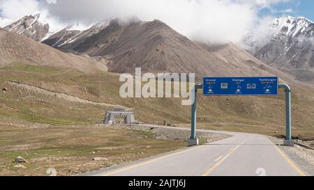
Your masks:
{"label": "grey asphalt road with yellow markings passing under the blue sign", "polygon": [[[203,130],[206,131],[206,130]],[[212,131],[208,131],[212,132]],[[267,136],[216,132],[232,137],[137,161],[97,176],[302,176],[299,166]]]}

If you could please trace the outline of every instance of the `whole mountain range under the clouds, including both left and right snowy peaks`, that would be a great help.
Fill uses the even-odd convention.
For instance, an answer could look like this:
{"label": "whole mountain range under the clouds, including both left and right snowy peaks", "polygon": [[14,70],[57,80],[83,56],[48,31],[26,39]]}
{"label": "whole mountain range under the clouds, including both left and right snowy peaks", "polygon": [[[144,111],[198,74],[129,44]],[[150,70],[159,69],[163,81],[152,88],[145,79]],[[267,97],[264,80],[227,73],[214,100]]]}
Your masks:
{"label": "whole mountain range under the clouds, including both left and right snowy peaks", "polygon": [[126,23],[112,19],[91,24],[88,29],[70,25],[56,30],[37,14],[4,29],[62,52],[106,58],[110,72],[133,73],[141,67],[154,73],[195,72],[199,79],[206,75],[281,75],[290,81],[314,80],[313,22],[304,18],[277,18],[263,42],[257,42],[255,31],[248,33],[244,44],[250,54],[232,43],[193,42],[159,20]]}

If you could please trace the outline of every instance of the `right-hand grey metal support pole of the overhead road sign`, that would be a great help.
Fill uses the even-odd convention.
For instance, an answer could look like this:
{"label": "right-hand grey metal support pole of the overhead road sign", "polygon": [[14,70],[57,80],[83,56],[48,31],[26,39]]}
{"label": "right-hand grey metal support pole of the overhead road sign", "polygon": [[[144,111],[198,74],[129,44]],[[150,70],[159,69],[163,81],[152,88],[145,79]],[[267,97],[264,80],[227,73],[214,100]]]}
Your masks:
{"label": "right-hand grey metal support pole of the overhead road sign", "polygon": [[279,88],[285,89],[285,141],[283,145],[293,146],[291,136],[291,88],[287,84],[279,84]]}

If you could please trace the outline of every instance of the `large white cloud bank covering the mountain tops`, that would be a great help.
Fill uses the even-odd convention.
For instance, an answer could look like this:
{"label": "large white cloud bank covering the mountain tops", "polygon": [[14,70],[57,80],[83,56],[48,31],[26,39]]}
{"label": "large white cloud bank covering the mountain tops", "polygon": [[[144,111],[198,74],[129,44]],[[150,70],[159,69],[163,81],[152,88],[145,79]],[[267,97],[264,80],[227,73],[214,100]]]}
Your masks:
{"label": "large white cloud bank covering the mountain tops", "polygon": [[[47,9],[62,22],[100,19],[160,19],[181,34],[203,42],[239,42],[260,19],[261,8],[289,0],[0,0],[1,15],[16,19]],[[17,11],[17,9],[19,11]]]}

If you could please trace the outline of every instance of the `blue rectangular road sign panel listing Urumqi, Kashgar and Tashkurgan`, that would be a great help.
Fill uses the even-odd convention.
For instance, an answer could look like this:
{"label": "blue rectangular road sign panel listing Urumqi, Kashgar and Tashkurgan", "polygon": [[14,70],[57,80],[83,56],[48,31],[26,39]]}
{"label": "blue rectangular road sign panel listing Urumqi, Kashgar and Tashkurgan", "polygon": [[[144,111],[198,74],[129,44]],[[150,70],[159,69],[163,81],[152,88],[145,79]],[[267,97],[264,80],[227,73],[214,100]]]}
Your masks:
{"label": "blue rectangular road sign panel listing Urumqi, Kashgar and Tashkurgan", "polygon": [[278,77],[204,77],[203,95],[278,95]]}

